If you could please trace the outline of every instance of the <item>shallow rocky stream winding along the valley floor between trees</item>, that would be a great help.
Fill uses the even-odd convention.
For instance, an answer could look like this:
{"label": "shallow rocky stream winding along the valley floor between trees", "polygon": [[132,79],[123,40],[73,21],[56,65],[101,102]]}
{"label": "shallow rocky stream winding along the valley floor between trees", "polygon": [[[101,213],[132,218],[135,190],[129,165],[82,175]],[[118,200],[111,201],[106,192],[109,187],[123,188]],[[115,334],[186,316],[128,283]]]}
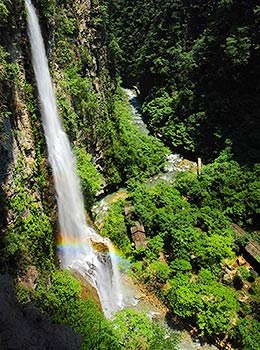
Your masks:
{"label": "shallow rocky stream winding along the valley floor between trees", "polygon": [[[131,107],[134,125],[145,135],[150,132],[144,123],[141,115],[141,106],[138,101],[137,94],[131,89],[124,89]],[[183,159],[179,154],[167,155],[167,163],[163,171],[147,181],[147,185],[155,184],[158,181],[164,180],[173,182],[177,172],[181,171],[197,171],[197,164],[187,159]],[[109,210],[110,205],[120,198],[127,198],[126,188],[120,188],[116,192],[109,194],[102,198],[100,202],[93,207],[93,214],[95,217],[95,225],[100,228],[102,226],[103,218]],[[120,264],[120,262],[119,262]],[[186,330],[178,330],[178,324],[168,325],[166,321],[167,308],[156,296],[147,293],[141,286],[135,284],[128,276],[127,270],[130,269],[131,263],[122,259],[121,271],[122,287],[124,295],[124,306],[138,311],[144,311],[151,319],[157,319],[163,322],[166,327],[169,327],[173,332],[180,334],[180,342],[178,350],[217,350],[214,345],[202,343],[199,339],[193,338]],[[166,349],[167,350],[167,349]]]}

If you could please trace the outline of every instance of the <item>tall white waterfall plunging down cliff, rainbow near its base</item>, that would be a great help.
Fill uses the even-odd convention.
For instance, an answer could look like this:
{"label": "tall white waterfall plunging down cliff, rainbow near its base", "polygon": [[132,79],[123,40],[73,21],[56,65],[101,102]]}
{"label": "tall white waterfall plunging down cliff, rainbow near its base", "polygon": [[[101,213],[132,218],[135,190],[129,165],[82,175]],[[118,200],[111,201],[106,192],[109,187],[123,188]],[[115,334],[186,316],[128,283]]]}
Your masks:
{"label": "tall white waterfall plunging down cliff, rainbow near its base", "polygon": [[[75,159],[58,115],[39,21],[31,1],[25,0],[25,4],[28,12],[33,69],[39,92],[48,158],[57,194],[62,239],[61,264],[63,268],[80,273],[96,288],[105,316],[111,317],[122,307],[115,254],[111,242],[98,235],[86,223]],[[103,252],[96,251],[93,248],[94,243],[101,245]]]}

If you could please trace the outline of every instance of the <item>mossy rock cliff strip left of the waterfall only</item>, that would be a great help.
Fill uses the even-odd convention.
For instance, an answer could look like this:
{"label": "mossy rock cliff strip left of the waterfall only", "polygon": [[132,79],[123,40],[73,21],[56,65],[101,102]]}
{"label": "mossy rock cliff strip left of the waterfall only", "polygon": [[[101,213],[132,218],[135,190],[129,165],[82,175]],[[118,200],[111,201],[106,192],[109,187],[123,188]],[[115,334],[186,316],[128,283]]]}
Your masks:
{"label": "mossy rock cliff strip left of the waterfall only", "polygon": [[35,95],[28,83],[32,70],[24,10],[21,3],[6,4],[1,26],[1,272],[17,274],[31,264],[44,266],[43,251],[50,268],[54,202]]}

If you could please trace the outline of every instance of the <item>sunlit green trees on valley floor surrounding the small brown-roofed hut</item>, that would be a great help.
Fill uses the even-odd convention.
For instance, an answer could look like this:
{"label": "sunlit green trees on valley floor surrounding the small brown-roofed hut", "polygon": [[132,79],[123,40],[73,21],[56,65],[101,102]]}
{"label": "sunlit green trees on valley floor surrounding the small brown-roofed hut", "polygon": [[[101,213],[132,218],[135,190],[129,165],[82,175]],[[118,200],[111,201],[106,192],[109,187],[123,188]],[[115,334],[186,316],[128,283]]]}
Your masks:
{"label": "sunlit green trees on valley floor surrounding the small brown-roofed hut", "polygon": [[[173,314],[196,325],[207,337],[223,340],[231,334],[228,339],[233,341],[234,334],[242,332],[239,333],[241,341],[250,342],[253,341],[250,334],[245,340],[244,330],[239,325],[245,316],[243,312],[257,321],[250,307],[242,311],[246,310],[246,305],[258,305],[258,299],[254,304],[257,282],[252,285],[256,289],[248,293],[250,304],[242,305],[238,299],[243,282],[238,287],[238,279],[248,283],[248,269],[237,269],[228,283],[223,279],[223,271],[234,264],[235,237],[230,228],[231,220],[216,206],[216,199],[222,193],[206,191],[203,173],[200,178],[194,175],[194,181],[200,183],[204,189],[202,193],[207,193],[207,205],[205,202],[195,204],[190,193],[188,198],[183,197],[176,189],[182,183],[179,179],[173,186],[165,182],[149,186],[131,183],[127,199],[133,205],[131,218],[124,217],[126,204],[120,200],[111,206],[102,230],[110,233],[124,253],[132,257],[135,276],[156,293]],[[182,179],[185,176],[188,180],[193,178],[193,174],[180,175]],[[223,177],[223,173],[219,177]],[[127,232],[133,220],[144,224],[147,249],[135,250],[129,243]]]}

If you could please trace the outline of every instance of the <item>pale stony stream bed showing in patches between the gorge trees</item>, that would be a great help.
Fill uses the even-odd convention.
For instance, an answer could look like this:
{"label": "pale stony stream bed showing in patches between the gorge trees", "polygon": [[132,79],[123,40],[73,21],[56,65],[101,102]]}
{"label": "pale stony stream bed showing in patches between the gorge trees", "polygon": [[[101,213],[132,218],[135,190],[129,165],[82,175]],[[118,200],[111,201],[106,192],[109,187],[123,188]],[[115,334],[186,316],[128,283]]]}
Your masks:
{"label": "pale stony stream bed showing in patches between the gorge trees", "polygon": [[[134,110],[133,123],[136,125],[136,127],[141,128],[139,130],[145,130],[146,126],[141,118],[140,109],[136,110],[137,97],[134,95],[134,92],[129,94],[129,91],[127,96],[130,104],[134,101],[134,105],[131,104],[131,109],[132,111]],[[147,131],[145,131],[144,134],[147,135]],[[148,187],[162,180],[166,181],[167,183],[171,183],[174,181],[177,172],[190,170],[195,173],[197,172],[197,164],[195,162],[183,159],[178,154],[168,154],[167,163],[163,171],[149,178],[145,183]],[[116,192],[104,196],[99,204],[93,208],[95,224],[99,229],[102,228],[103,220],[105,220],[105,216],[108,213],[110,206],[118,200],[124,200],[127,197],[127,190],[125,188],[120,188]],[[127,261],[124,261],[123,263],[131,265],[131,263]],[[179,333],[181,336],[181,341],[179,344],[180,350],[217,349],[215,346],[206,343],[204,339],[199,338],[196,330],[190,325],[185,325],[181,323],[180,320],[174,319],[170,310],[152,291],[148,290],[144,283],[133,280],[126,272],[122,273],[122,280],[124,306],[139,311],[144,311],[149,315],[149,317],[160,320],[173,332]]]}

